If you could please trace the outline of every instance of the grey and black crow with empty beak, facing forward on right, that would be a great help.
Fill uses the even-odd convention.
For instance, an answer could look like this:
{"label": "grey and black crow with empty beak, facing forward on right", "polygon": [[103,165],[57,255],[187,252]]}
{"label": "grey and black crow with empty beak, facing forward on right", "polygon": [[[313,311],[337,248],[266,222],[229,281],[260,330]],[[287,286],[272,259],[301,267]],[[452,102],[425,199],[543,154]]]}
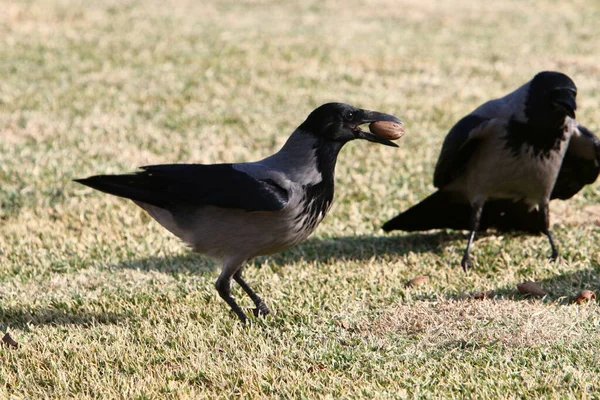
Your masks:
{"label": "grey and black crow with empty beak, facing forward on right", "polygon": [[540,72],[514,92],[489,101],[448,133],[433,184],[438,191],[383,225],[385,231],[470,230],[544,233],[552,259],[548,203],[594,182],[600,141],[575,121],[577,88],[566,75]]}

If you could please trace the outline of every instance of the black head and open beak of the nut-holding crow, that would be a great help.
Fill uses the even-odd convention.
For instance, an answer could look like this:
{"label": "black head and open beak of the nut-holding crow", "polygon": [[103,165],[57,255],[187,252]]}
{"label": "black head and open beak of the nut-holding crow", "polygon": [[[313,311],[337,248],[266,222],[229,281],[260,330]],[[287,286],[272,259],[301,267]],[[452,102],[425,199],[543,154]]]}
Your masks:
{"label": "black head and open beak of the nut-holding crow", "polygon": [[398,147],[388,139],[360,129],[362,124],[376,121],[402,123],[392,115],[362,110],[344,103],[327,103],[311,112],[298,129],[328,142],[344,144],[354,139],[365,139],[386,146]]}

